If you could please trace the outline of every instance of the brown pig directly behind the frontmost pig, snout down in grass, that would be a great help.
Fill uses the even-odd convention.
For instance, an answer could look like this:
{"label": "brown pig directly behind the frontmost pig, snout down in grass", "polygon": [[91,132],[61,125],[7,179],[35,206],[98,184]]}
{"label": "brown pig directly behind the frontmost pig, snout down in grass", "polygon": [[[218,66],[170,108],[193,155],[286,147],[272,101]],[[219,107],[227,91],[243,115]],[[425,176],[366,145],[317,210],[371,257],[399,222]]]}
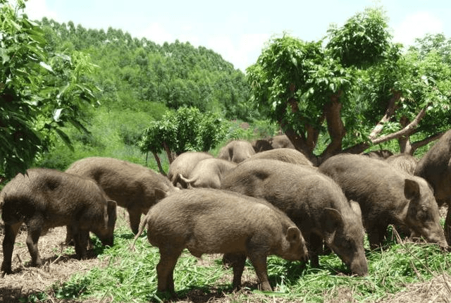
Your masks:
{"label": "brown pig directly behind the frontmost pig, snout down in grass", "polygon": [[323,240],[352,273],[366,276],[362,219],[338,185],[314,168],[277,160],[245,161],[223,175],[221,188],[264,198],[296,223],[319,266]]}

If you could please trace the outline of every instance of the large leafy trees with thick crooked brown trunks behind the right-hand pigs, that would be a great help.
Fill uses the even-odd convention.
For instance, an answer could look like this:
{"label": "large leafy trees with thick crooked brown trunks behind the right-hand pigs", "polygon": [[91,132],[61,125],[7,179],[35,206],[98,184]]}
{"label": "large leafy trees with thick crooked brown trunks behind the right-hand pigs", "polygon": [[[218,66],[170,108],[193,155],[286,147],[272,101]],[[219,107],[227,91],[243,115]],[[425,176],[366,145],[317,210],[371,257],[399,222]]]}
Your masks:
{"label": "large leafy trees with thick crooked brown trunks behind the right-hand pigs", "polygon": [[[421,59],[413,50],[402,54],[402,46],[390,39],[381,8],[330,27],[325,47],[322,40],[273,38],[247,70],[252,97],[316,164],[393,139],[407,151],[411,136],[428,130],[434,137],[450,127],[449,77],[432,53]],[[434,130],[438,113],[443,120]]]}

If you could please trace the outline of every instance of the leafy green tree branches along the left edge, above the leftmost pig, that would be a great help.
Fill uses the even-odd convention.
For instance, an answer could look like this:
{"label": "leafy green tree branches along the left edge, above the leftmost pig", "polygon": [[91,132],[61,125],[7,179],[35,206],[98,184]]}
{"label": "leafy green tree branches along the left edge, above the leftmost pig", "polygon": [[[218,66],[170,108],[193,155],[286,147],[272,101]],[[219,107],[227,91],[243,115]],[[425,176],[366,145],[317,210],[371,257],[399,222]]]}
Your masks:
{"label": "leafy green tree branches along the left edge, above the leftmost pig", "polygon": [[54,134],[70,144],[61,128],[85,130],[80,109],[94,97],[85,82],[93,68],[88,57],[49,54],[42,30],[20,15],[23,8],[23,0],[16,7],[0,0],[0,179],[25,171]]}

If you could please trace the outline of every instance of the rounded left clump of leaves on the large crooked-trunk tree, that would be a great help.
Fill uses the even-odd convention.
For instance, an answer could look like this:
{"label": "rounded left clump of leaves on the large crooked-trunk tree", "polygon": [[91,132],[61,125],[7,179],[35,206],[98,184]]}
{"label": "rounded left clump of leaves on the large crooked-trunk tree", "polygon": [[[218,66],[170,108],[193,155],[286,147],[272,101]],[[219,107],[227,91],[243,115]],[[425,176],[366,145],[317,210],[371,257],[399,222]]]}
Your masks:
{"label": "rounded left clump of leaves on the large crooked-trunk tree", "polygon": [[301,134],[307,125],[320,128],[324,105],[350,85],[350,73],[321,44],[288,35],[273,38],[247,69],[259,110],[283,128],[289,125]]}

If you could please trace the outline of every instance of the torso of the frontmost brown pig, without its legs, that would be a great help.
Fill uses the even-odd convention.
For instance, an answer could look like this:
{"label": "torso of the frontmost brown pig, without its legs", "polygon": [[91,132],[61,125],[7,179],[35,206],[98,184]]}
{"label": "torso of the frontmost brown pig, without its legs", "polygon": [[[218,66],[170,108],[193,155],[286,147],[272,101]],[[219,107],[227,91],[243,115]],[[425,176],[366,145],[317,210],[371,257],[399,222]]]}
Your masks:
{"label": "torso of the frontmost brown pig, without its legs", "polygon": [[262,247],[278,246],[286,229],[293,226],[285,214],[264,200],[204,188],[175,192],[147,214],[152,245],[187,247],[194,256],[245,253],[247,240],[256,234],[266,239],[260,243]]}

